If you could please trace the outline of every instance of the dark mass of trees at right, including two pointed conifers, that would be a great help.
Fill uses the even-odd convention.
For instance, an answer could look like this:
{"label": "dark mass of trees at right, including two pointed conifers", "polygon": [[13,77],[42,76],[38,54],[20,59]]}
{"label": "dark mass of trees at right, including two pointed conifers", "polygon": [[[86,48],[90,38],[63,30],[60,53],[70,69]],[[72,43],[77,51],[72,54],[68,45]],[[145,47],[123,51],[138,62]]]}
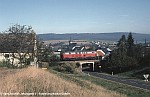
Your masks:
{"label": "dark mass of trees at right, including two pointed conifers", "polygon": [[122,35],[117,49],[107,58],[107,72],[124,72],[139,66],[150,66],[150,48],[146,45],[135,44],[132,33],[126,38]]}

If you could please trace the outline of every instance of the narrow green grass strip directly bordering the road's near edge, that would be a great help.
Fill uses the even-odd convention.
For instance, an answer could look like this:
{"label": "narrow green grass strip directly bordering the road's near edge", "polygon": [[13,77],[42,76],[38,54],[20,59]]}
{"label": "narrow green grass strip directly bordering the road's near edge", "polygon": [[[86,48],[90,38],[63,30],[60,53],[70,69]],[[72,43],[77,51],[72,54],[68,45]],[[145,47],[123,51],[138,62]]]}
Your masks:
{"label": "narrow green grass strip directly bordering the road's near edge", "polygon": [[150,97],[150,91],[137,89],[131,86],[107,81],[107,80],[96,78],[93,76],[81,75],[81,76],[76,76],[76,77],[80,79],[88,80],[91,83],[94,83],[99,86],[103,86],[108,90],[116,91],[118,93],[127,95],[128,97]]}

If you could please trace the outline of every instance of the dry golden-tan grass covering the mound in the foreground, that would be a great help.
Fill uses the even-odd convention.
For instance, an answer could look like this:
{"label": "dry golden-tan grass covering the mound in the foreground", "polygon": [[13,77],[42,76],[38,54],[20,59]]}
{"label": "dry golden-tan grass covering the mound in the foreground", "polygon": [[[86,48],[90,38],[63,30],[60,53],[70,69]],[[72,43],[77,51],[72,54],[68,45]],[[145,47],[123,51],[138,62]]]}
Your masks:
{"label": "dry golden-tan grass covering the mound in the foreground", "polygon": [[89,83],[92,87],[91,89],[80,87],[46,70],[34,67],[17,70],[15,73],[8,73],[6,75],[0,77],[1,93],[70,93],[70,95],[63,97],[123,97],[120,94],[91,83]]}

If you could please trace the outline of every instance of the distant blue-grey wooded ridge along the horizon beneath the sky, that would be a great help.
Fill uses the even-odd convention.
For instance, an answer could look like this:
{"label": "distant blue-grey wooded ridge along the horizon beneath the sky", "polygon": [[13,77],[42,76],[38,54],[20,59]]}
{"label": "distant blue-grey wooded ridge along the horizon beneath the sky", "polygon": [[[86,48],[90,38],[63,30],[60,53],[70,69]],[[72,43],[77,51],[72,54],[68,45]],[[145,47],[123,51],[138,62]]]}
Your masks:
{"label": "distant blue-grey wooded ridge along the horizon beneath the sky", "polygon": [[[69,40],[70,37],[76,40],[109,40],[118,41],[122,35],[128,35],[127,32],[115,33],[66,33],[66,34],[38,34],[38,37],[45,40]],[[144,42],[145,39],[150,41],[150,34],[132,33],[135,41]]]}

